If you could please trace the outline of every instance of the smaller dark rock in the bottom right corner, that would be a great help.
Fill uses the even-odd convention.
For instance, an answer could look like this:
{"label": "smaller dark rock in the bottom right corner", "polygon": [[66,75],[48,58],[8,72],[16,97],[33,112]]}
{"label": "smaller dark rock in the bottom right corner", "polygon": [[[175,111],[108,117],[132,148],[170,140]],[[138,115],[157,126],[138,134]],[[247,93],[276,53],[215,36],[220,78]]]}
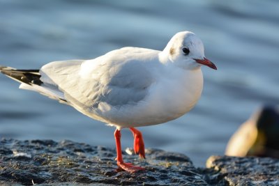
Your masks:
{"label": "smaller dark rock in the bottom right corner", "polygon": [[279,160],[270,157],[211,156],[206,167],[213,185],[279,185]]}

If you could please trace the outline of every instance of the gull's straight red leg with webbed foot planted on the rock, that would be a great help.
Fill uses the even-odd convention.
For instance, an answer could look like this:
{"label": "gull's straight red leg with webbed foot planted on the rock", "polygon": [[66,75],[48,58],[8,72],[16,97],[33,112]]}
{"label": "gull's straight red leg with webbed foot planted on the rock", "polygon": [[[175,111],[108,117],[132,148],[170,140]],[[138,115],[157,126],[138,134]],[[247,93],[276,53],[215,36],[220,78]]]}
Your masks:
{"label": "gull's straight red leg with webbed foot planted on the rock", "polygon": [[121,132],[120,130],[116,129],[114,132],[115,142],[116,142],[116,160],[117,165],[121,167],[121,169],[128,171],[130,173],[135,173],[136,171],[144,170],[144,168],[140,166],[133,166],[133,164],[130,163],[124,163],[122,158],[122,151],[121,151]]}

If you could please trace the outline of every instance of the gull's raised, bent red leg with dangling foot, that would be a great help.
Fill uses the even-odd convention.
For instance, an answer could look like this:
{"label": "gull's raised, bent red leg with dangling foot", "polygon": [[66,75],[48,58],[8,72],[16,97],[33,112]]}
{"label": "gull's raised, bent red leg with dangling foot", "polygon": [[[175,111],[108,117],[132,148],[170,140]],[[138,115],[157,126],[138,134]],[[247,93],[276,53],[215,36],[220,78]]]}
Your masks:
{"label": "gull's raised, bent red leg with dangling foot", "polygon": [[142,137],[142,132],[136,130],[133,127],[130,127],[130,131],[133,132],[134,135],[134,150],[135,153],[140,155],[140,157],[145,158],[144,152],[144,138]]}

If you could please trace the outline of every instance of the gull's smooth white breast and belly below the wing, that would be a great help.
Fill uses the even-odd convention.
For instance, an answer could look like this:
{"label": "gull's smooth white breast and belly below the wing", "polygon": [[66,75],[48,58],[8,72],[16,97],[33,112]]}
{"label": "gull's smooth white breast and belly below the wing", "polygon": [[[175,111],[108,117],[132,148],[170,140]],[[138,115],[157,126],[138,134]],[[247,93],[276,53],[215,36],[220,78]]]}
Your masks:
{"label": "gull's smooth white breast and belly below the wing", "polygon": [[146,99],[135,105],[114,108],[110,123],[117,127],[139,127],[171,121],[192,109],[202,93],[202,71],[170,69],[149,89]]}

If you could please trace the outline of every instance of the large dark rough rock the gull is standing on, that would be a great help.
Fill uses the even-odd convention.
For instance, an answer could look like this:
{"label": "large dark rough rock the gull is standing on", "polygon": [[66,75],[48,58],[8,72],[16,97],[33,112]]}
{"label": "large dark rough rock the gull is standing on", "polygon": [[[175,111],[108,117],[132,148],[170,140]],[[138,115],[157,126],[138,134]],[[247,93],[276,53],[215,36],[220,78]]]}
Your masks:
{"label": "large dark rough rock the gull is standing on", "polygon": [[163,150],[147,149],[146,160],[124,155],[145,167],[137,173],[118,169],[115,150],[73,141],[2,139],[0,153],[0,184],[208,185],[186,155]]}

